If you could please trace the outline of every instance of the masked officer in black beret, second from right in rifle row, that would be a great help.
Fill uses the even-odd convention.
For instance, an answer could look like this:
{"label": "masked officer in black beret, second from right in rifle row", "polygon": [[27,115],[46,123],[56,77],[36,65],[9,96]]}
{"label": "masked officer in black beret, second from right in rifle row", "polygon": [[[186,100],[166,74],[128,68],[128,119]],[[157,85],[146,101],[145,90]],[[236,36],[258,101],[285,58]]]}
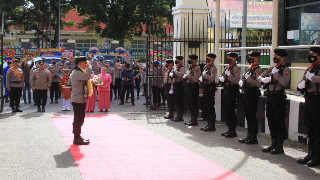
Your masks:
{"label": "masked officer in black beret, second from right in rifle row", "polygon": [[285,99],[287,95],[285,86],[290,80],[290,70],[284,64],[288,53],[284,49],[275,49],[273,62],[275,66],[268,68],[258,78],[266,87],[266,110],[268,126],[271,135],[271,146],[262,149],[263,152],[271,154],[283,153],[283,143],[286,138],[286,127],[284,119],[286,117]]}

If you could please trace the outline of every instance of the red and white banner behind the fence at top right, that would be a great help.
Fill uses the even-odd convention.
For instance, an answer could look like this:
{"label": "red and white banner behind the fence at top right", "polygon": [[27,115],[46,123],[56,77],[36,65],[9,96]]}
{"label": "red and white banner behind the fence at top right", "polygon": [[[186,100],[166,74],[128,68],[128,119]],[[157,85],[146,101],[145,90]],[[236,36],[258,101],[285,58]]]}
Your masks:
{"label": "red and white banner behind the fence at top right", "polygon": [[[216,3],[207,0],[209,12],[211,12],[211,23],[214,25],[216,16]],[[243,0],[221,0],[220,16],[224,28],[242,28]],[[247,3],[247,28],[272,29],[272,1],[248,1]],[[230,13],[229,13],[230,12]],[[208,27],[210,27],[210,18]]]}

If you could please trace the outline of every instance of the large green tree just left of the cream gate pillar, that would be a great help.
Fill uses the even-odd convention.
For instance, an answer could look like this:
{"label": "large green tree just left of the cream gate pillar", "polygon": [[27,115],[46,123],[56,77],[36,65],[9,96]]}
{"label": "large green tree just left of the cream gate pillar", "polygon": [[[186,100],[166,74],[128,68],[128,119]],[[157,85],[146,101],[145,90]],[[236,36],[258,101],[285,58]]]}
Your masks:
{"label": "large green tree just left of the cream gate pillar", "polygon": [[141,36],[143,27],[172,23],[174,0],[73,0],[79,16],[84,16],[79,27],[87,27],[100,37],[119,40]]}

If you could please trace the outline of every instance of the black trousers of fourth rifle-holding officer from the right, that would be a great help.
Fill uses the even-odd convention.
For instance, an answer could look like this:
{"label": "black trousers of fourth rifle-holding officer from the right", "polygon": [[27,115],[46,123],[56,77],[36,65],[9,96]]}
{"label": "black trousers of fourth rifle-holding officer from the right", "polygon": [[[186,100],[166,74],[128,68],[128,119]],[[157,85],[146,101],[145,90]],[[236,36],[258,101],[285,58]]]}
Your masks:
{"label": "black trousers of fourth rifle-holding officer from the right", "polygon": [[231,131],[235,131],[237,127],[237,94],[239,87],[237,85],[226,85],[223,93],[223,108],[226,117],[226,124]]}

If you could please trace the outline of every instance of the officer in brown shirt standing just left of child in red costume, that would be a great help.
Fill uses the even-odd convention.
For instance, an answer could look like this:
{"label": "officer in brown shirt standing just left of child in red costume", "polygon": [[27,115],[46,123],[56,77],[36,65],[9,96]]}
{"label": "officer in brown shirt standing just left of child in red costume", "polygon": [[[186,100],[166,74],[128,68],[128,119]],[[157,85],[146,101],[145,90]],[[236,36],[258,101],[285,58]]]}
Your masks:
{"label": "officer in brown shirt standing just left of child in red costume", "polygon": [[62,77],[62,70],[60,66],[57,66],[57,61],[55,59],[51,60],[52,65],[48,67],[48,70],[51,73],[51,88],[50,88],[50,99],[51,104],[53,103],[53,95],[55,97],[55,103],[58,102],[59,98],[59,83],[60,83],[60,77]]}

